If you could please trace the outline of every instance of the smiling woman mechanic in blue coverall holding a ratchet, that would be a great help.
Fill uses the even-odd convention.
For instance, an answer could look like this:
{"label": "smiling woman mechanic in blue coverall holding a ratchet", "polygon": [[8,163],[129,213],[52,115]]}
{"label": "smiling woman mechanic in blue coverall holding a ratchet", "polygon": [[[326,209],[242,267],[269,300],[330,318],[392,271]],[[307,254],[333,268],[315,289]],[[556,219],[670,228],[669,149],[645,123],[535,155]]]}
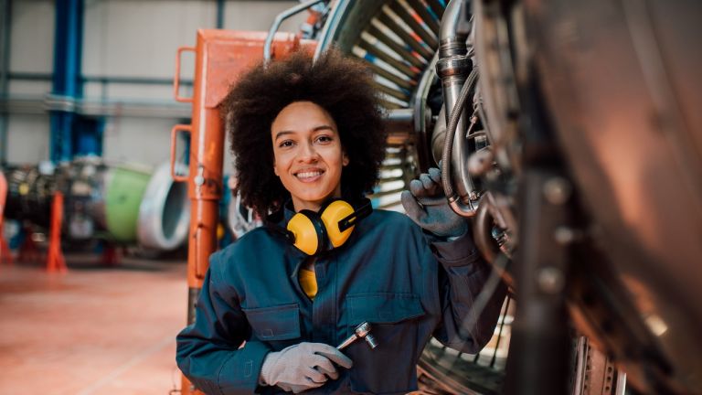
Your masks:
{"label": "smiling woman mechanic in blue coverall holding a ratchet", "polygon": [[[223,106],[239,192],[268,220],[212,255],[196,322],[177,338],[178,366],[198,389],[407,393],[431,336],[484,346],[505,289],[462,329],[490,269],[440,196],[438,170],[402,196],[424,230],[396,212],[368,214],[386,136],[363,65],[297,53],[252,69]],[[377,347],[336,349],[363,323]]]}

